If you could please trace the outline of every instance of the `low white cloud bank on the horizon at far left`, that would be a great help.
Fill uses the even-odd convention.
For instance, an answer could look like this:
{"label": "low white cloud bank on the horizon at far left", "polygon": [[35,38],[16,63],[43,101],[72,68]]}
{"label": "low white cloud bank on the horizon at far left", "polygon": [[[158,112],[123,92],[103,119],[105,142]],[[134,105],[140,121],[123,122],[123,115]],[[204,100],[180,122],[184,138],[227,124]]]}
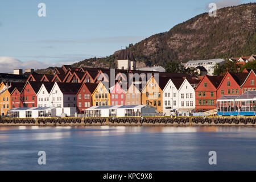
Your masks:
{"label": "low white cloud bank on the horizon at far left", "polygon": [[60,65],[60,63],[42,63],[36,60],[22,62],[14,57],[0,56],[0,73],[13,73],[13,69],[42,69],[58,65]]}

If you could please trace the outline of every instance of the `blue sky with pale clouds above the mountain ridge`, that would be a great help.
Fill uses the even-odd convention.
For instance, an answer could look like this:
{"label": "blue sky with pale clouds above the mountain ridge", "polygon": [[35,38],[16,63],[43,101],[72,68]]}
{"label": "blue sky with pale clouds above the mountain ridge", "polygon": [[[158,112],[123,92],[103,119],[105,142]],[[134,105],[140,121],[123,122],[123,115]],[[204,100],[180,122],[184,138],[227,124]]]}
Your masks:
{"label": "blue sky with pale clouds above the mountain ridge", "polygon": [[[0,1],[0,72],[105,57],[209,11],[214,0]],[[217,0],[217,8],[255,0]],[[39,3],[46,16],[38,16]]]}

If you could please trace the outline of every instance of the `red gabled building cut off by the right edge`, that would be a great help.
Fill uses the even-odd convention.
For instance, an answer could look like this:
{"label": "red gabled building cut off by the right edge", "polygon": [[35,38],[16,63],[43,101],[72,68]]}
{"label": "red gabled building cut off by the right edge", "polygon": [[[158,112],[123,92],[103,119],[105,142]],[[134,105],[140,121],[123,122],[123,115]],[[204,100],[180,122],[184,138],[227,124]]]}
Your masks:
{"label": "red gabled building cut off by the right edge", "polygon": [[251,69],[245,81],[241,85],[242,94],[246,91],[256,90],[256,69]]}

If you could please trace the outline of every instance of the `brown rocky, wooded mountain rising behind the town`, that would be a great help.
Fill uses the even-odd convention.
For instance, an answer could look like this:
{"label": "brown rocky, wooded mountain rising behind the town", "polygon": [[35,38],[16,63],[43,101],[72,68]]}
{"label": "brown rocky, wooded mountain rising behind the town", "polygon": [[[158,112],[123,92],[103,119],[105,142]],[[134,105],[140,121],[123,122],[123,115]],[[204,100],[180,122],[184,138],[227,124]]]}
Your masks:
{"label": "brown rocky, wooded mountain rising behind the town", "polygon": [[[229,58],[256,53],[256,3],[225,7],[217,16],[203,13],[177,24],[170,31],[152,35],[127,49],[133,51],[137,64],[164,65],[169,61]],[[113,55],[91,58],[73,67],[116,67]]]}

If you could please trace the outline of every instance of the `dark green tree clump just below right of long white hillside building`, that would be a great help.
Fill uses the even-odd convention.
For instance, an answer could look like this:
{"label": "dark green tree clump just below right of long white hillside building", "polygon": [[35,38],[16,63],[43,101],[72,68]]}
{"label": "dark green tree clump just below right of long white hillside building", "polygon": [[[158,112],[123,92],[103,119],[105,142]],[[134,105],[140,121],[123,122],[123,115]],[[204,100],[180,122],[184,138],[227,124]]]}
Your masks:
{"label": "dark green tree clump just below right of long white hillside building", "polygon": [[226,60],[226,62],[222,65],[215,65],[213,75],[223,76],[226,72],[237,73],[239,70],[240,65],[238,65],[236,62]]}

